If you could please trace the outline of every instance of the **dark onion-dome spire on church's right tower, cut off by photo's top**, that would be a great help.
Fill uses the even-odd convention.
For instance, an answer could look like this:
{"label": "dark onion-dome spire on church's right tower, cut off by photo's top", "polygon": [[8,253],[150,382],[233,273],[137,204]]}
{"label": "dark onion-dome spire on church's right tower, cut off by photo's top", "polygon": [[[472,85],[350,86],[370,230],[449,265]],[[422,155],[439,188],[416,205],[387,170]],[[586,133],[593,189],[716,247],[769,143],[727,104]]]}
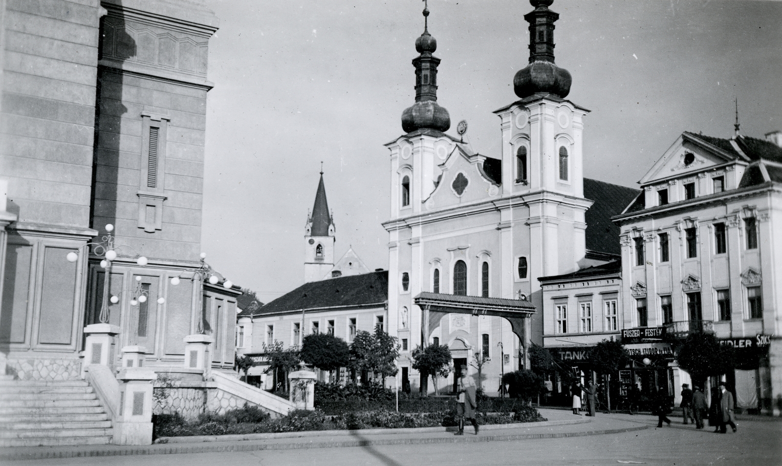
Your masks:
{"label": "dark onion-dome spire on church's right tower, cut off by photo's top", "polygon": [[529,65],[513,78],[513,90],[521,99],[533,94],[554,94],[564,99],[570,92],[570,73],[554,64],[554,21],[559,13],[548,9],[553,2],[529,0],[535,9],[524,15],[529,23]]}

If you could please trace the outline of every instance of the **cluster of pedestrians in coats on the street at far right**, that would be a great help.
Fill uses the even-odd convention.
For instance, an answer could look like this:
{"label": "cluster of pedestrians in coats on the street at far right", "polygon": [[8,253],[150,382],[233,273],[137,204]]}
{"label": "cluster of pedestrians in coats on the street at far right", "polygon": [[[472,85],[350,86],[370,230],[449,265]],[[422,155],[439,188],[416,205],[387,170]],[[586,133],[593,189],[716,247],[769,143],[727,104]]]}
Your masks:
{"label": "cluster of pedestrians in coats on the street at far right", "polygon": [[[695,428],[704,428],[703,414],[708,412],[708,425],[714,427],[714,432],[726,433],[727,426],[730,425],[736,432],[736,421],[734,418],[734,396],[730,390],[726,389],[725,382],[719,382],[717,387],[712,388],[712,404],[708,406],[705,393],[701,392],[701,387],[694,385],[691,390],[688,384],[682,385],[682,403],[684,422],[688,420],[695,423]],[[665,418],[667,419],[667,418]],[[658,427],[662,427],[662,421],[658,421]],[[667,420],[670,425],[670,420]]]}

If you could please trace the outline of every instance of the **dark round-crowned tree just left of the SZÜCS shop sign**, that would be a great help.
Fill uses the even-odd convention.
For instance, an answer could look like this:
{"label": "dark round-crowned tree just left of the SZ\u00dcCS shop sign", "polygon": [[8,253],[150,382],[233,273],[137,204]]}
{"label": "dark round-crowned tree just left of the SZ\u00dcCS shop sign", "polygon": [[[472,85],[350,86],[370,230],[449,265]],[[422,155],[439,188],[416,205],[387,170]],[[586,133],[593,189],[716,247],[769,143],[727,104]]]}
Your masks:
{"label": "dark round-crowned tree just left of the SZ\u00dcCS shop sign", "polygon": [[735,354],[732,346],[722,346],[710,333],[691,333],[676,348],[676,362],[687,371],[693,383],[704,386],[710,375],[724,374],[734,367]]}

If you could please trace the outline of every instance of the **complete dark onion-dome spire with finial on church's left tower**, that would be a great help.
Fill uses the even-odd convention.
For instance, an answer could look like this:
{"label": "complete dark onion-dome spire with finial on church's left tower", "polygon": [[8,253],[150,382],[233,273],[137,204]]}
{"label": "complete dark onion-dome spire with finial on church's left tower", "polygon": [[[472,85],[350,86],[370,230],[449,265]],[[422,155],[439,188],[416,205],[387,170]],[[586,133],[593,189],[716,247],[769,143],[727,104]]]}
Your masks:
{"label": "complete dark onion-dome spire with finial on church's left tower", "polygon": [[424,33],[415,40],[415,50],[421,55],[413,59],[415,66],[415,103],[402,112],[402,130],[411,133],[423,128],[448,131],[448,110],[437,105],[437,65],[439,58],[432,56],[437,41],[429,34],[429,8],[424,7]]}

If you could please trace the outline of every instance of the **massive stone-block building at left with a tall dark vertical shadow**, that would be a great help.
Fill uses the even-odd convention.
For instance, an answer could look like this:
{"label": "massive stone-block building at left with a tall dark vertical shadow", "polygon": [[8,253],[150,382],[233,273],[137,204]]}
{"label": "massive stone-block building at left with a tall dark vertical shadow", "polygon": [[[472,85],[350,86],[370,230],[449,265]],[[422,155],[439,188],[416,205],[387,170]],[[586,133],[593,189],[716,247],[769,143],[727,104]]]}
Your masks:
{"label": "massive stone-block building at left with a tall dark vertical shadow", "polygon": [[[14,393],[59,383],[65,388],[53,393],[100,395],[64,401],[71,411],[59,418],[62,429],[30,424],[34,433],[4,436],[0,445],[138,442],[126,435],[133,429],[120,400],[101,395],[119,396],[127,384],[114,375],[131,364],[184,384],[158,412],[170,402],[187,406],[187,417],[242,396],[258,402],[237,395],[225,375],[241,292],[201,254],[215,30],[202,0],[0,2],[0,383]],[[99,341],[87,344],[93,336]],[[212,370],[223,378],[207,382]],[[149,442],[143,418],[152,414],[156,375],[143,377],[139,393],[149,398],[134,405],[144,424],[136,432]],[[6,402],[19,416],[40,418],[48,415],[41,396],[59,395]],[[98,418],[69,422],[84,414],[80,406]]]}

